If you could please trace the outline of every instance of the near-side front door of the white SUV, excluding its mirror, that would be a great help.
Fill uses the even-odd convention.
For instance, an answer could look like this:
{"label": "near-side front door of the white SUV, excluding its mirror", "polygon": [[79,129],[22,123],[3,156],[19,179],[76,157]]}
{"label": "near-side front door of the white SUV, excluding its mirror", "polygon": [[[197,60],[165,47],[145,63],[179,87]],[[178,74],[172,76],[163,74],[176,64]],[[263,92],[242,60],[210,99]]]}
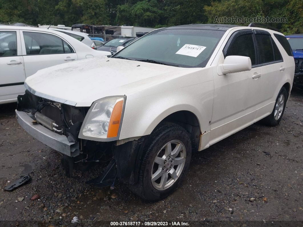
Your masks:
{"label": "near-side front door of the white SUV, excluding its mirror", "polygon": [[[223,49],[218,68],[224,62],[224,58],[230,55],[250,57],[251,65],[254,67],[256,49],[251,29],[239,30],[231,35]],[[252,74],[259,72],[261,73],[261,69],[226,75],[222,75],[219,70],[214,72],[215,96],[210,125],[210,145],[251,123],[253,113],[247,112],[249,92],[252,89],[250,80],[252,80]]]}

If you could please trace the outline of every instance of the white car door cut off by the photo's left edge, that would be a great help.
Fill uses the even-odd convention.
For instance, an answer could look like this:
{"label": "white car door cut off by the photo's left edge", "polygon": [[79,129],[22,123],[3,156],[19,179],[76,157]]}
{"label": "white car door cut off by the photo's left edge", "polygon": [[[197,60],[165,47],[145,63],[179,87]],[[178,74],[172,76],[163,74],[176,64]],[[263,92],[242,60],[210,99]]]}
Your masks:
{"label": "white car door cut off by the photo's left edge", "polygon": [[15,102],[25,91],[19,30],[0,29],[0,104]]}

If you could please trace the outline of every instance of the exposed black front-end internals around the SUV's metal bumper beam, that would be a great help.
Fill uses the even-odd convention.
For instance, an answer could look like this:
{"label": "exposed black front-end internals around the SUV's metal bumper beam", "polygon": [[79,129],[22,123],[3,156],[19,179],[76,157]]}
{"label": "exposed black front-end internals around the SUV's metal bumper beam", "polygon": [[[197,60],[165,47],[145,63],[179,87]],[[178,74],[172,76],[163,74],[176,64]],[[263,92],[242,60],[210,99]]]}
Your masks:
{"label": "exposed black front-end internals around the SUV's metal bumper beam", "polygon": [[24,95],[18,95],[17,111],[26,112],[33,120],[31,124],[40,124],[58,135],[65,136],[69,143],[79,144],[78,155],[74,156],[66,155],[58,149],[62,154],[61,162],[67,177],[72,177],[73,169],[86,171],[94,164],[102,163],[105,167],[102,175],[87,183],[104,187],[112,185],[117,176],[124,182],[134,183],[138,175],[137,171],[133,171],[133,165],[138,163],[137,152],[141,148],[142,140],[117,146],[115,141],[78,139],[89,108],[54,102],[38,97],[28,90]]}

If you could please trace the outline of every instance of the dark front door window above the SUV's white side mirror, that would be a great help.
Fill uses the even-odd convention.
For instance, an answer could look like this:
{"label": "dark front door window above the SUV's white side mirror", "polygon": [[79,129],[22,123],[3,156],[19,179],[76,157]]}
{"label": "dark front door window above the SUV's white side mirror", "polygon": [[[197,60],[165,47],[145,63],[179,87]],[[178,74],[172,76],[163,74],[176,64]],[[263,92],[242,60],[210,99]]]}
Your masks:
{"label": "dark front door window above the SUV's white side mirror", "polygon": [[229,45],[226,52],[226,56],[230,55],[250,57],[251,65],[255,65],[256,53],[252,34],[244,34],[235,38],[235,40]]}

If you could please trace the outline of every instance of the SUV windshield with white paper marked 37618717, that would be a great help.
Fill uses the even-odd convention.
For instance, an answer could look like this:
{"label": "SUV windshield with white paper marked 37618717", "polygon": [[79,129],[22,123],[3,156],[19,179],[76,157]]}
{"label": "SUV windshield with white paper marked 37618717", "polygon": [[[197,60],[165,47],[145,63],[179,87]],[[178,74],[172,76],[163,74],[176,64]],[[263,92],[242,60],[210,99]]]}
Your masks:
{"label": "SUV windshield with white paper marked 37618717", "polygon": [[113,58],[148,60],[178,67],[205,67],[225,31],[161,29],[128,45]]}

